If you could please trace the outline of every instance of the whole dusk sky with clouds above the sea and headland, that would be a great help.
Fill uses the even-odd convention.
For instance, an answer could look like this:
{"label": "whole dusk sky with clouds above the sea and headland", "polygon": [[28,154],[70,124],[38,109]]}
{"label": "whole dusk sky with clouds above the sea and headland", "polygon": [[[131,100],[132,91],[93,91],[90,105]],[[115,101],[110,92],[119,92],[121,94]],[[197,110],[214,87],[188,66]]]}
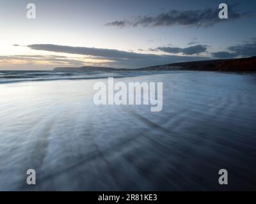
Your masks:
{"label": "whole dusk sky with clouds above the sea and headland", "polygon": [[[27,4],[36,18],[27,18]],[[218,17],[220,3],[228,19]],[[0,69],[106,66],[256,55],[256,1],[1,0]]]}

